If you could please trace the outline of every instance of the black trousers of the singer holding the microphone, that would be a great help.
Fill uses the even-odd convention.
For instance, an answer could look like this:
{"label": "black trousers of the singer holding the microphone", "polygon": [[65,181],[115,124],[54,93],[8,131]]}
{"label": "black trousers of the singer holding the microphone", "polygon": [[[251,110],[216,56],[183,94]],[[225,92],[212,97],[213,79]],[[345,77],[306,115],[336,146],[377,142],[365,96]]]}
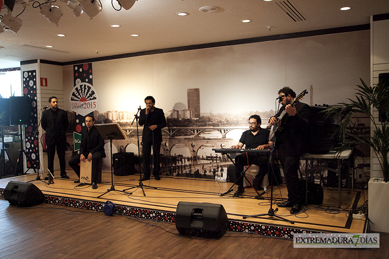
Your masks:
{"label": "black trousers of the singer holding the microphone", "polygon": [[[153,149],[153,156],[151,155],[151,149]],[[143,165],[144,165],[144,172],[143,176],[150,177],[151,175],[151,167],[150,167],[150,160],[152,165],[154,165],[153,169],[153,175],[159,175],[159,152],[161,149],[161,142],[156,141],[156,143],[153,144],[153,142],[142,142],[142,157],[143,157]]]}

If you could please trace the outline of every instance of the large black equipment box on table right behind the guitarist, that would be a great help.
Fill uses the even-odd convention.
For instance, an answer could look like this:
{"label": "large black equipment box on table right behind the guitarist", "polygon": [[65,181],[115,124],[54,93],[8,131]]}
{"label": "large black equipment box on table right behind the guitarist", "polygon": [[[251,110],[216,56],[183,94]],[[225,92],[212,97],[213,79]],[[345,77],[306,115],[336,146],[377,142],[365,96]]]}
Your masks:
{"label": "large black equipment box on table right behind the guitarist", "polygon": [[309,153],[327,154],[336,146],[336,139],[332,135],[337,125],[333,118],[323,113],[325,106],[311,106],[311,119],[309,121]]}

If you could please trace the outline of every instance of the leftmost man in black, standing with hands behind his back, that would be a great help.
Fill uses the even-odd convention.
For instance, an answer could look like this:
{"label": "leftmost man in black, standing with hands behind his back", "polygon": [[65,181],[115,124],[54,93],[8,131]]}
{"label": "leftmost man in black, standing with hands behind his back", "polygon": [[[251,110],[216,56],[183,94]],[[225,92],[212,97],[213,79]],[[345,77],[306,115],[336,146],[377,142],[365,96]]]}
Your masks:
{"label": "leftmost man in black, standing with hands behind his back", "polygon": [[54,174],[55,148],[59,159],[61,178],[69,179],[66,175],[65,145],[66,129],[69,126],[68,113],[58,108],[58,99],[49,98],[50,109],[42,114],[42,128],[46,131],[45,142],[47,146],[47,167]]}

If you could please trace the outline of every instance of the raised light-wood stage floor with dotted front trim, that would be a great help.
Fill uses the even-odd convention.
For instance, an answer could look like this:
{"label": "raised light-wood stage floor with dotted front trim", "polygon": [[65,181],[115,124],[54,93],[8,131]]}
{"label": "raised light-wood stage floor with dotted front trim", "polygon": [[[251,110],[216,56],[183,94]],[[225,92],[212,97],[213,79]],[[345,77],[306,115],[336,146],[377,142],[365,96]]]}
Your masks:
{"label": "raised light-wood stage floor with dotted front trim", "polygon": [[[76,175],[73,171],[67,170],[71,179],[55,178],[54,184],[47,185],[41,181],[32,181],[45,194],[45,202],[55,203],[65,206],[84,207],[99,210],[106,201],[111,201],[116,207],[121,207],[121,212],[127,213],[137,211],[138,216],[145,217],[145,211],[151,215],[146,217],[153,218],[159,216],[163,220],[164,215],[171,214],[174,221],[174,213],[177,204],[180,201],[195,203],[214,203],[221,204],[225,208],[229,219],[229,230],[246,231],[259,233],[268,233],[269,235],[278,235],[286,238],[293,236],[296,231],[303,232],[338,232],[338,233],[363,233],[365,232],[365,220],[353,219],[349,216],[352,207],[362,205],[367,200],[367,193],[362,195],[361,190],[341,191],[341,209],[338,209],[338,191],[324,190],[324,201],[321,206],[304,206],[303,212],[297,215],[291,215],[287,208],[279,208],[276,215],[293,221],[294,224],[282,221],[276,217],[262,216],[243,219],[245,215],[267,213],[270,208],[270,190],[263,194],[263,199],[255,199],[256,193],[252,188],[246,188],[243,197],[232,197],[233,191],[221,196],[221,193],[229,190],[232,183],[225,181],[216,181],[210,179],[194,179],[161,176],[160,181],[152,178],[143,182],[144,185],[156,187],[157,189],[139,188],[128,190],[131,195],[110,191],[101,198],[97,196],[106,192],[111,187],[111,173],[102,173],[103,182],[98,184],[98,189],[93,190],[90,185],[76,187],[73,183]],[[42,173],[40,173],[42,177]],[[59,172],[55,172],[58,177]],[[27,182],[34,180],[36,174],[24,174],[11,178],[0,179],[0,195],[3,195],[3,189],[9,181]],[[138,186],[139,174],[129,176],[113,175],[113,185],[115,190],[124,190],[130,187]],[[269,187],[270,189],[270,187]],[[261,191],[263,192],[263,191]],[[260,192],[260,193],[261,193]],[[285,186],[274,187],[274,201],[276,203],[281,198],[287,198]],[[363,198],[359,201],[359,197]],[[51,197],[51,198],[48,198]],[[54,197],[54,198],[53,198]],[[71,200],[73,202],[68,202]],[[90,205],[92,204],[92,205]],[[95,206],[100,204],[100,206]],[[273,204],[275,209],[277,206]],[[128,209],[126,209],[128,208]],[[154,212],[153,212],[154,211]],[[158,213],[157,213],[157,212]],[[166,217],[166,221],[169,221]],[[264,230],[261,232],[261,230]],[[270,233],[272,232],[272,233]],[[273,233],[274,232],[274,233]],[[281,233],[283,232],[283,233]]]}

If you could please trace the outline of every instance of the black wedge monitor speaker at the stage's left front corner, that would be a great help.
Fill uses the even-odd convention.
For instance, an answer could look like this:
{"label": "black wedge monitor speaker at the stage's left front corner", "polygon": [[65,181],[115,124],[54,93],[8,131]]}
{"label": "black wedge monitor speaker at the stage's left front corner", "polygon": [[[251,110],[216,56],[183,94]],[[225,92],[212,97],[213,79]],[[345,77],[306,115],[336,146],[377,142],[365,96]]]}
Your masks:
{"label": "black wedge monitor speaker at the stage's left front corner", "polygon": [[44,198],[42,191],[32,183],[10,181],[4,189],[4,199],[19,207],[41,204]]}

